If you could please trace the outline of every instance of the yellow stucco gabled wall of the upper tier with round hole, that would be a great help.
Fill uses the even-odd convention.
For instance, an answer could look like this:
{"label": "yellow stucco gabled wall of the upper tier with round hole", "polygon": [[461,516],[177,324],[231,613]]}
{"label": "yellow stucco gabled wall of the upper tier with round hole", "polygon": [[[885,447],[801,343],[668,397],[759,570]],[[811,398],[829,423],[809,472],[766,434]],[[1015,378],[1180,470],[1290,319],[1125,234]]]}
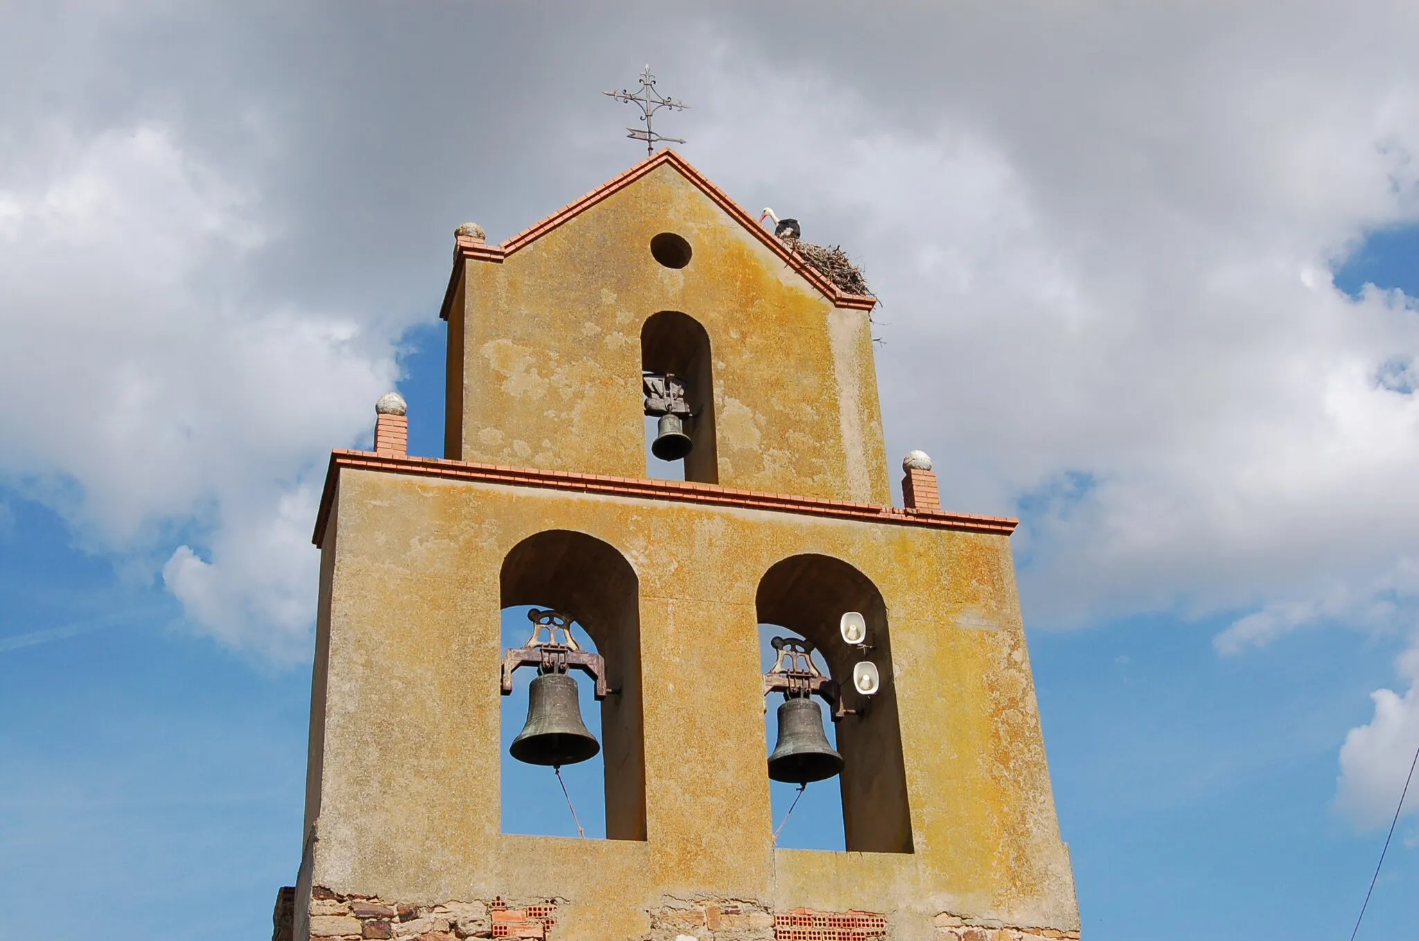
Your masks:
{"label": "yellow stucco gabled wall of the upper tier with round hole", "polygon": [[[692,247],[684,268],[651,257],[663,231]],[[501,264],[460,264],[446,457],[644,475],[640,331],[680,311],[710,334],[721,485],[890,502],[867,312],[834,308],[674,166]]]}

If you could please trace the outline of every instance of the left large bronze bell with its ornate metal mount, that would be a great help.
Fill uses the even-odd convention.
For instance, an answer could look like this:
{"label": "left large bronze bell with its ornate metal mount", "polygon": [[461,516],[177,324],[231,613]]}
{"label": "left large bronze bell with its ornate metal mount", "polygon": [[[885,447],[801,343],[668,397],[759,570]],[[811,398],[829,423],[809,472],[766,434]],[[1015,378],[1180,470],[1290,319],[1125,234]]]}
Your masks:
{"label": "left large bronze bell with its ornate metal mount", "polygon": [[538,668],[528,686],[528,720],[508,752],[529,765],[553,768],[595,758],[602,747],[582,721],[576,680],[568,670],[589,674],[596,681],[596,698],[602,700],[606,697],[606,661],[578,646],[569,615],[534,607],[528,619],[532,637],[502,653],[502,695],[512,693],[512,673],[518,667]]}

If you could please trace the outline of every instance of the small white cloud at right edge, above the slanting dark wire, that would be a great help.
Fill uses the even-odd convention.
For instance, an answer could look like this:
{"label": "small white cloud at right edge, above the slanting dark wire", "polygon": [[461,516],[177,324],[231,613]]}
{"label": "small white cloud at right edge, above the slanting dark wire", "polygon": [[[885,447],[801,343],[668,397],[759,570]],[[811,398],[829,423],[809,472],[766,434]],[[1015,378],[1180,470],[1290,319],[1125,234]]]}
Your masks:
{"label": "small white cloud at right edge, above the slanting dark wire", "polygon": [[[1375,690],[1375,717],[1349,730],[1340,749],[1335,805],[1359,827],[1388,823],[1403,792],[1415,751],[1419,749],[1419,637],[1396,661],[1409,688]],[[1419,810],[1419,786],[1409,785],[1403,813]]]}

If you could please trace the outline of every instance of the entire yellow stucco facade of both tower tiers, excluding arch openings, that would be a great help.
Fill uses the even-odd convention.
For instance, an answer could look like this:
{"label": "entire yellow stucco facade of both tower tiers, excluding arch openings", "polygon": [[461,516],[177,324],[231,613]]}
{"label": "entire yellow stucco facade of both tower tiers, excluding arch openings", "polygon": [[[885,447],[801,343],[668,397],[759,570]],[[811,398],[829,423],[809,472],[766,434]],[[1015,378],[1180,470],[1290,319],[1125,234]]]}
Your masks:
{"label": "entire yellow stucco facade of both tower tiers, excluding arch openings", "polygon": [[[688,265],[654,260],[664,231]],[[641,326],[661,311],[710,336],[718,484],[890,502],[867,312],[836,308],[673,160],[501,263],[455,263],[446,456],[641,477]],[[552,529],[639,579],[646,840],[501,832],[499,575]],[[891,938],[937,938],[944,913],[1078,928],[1007,536],[345,467],[322,554],[298,925],[321,887],[556,898],[552,937],[587,941],[674,938],[657,911],[714,900],[761,918],[715,937],[768,937],[763,913],[800,906],[887,913]],[[802,554],[856,566],[885,603],[876,715],[895,717],[902,764],[854,765],[897,789],[856,792],[871,805],[850,816],[895,808],[891,839],[858,844],[905,846],[910,818],[910,853],[773,849],[756,592]],[[873,721],[854,735],[877,747]],[[880,799],[902,785],[905,818]]]}

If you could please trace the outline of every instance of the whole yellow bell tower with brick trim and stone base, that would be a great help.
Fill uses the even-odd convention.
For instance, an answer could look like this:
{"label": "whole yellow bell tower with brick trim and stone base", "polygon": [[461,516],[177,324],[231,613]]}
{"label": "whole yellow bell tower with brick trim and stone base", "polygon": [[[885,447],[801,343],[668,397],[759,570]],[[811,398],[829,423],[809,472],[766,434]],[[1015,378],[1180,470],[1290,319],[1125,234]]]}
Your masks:
{"label": "whole yellow bell tower with brick trim and stone base", "polygon": [[[873,305],[671,150],[502,244],[460,227],[443,458],[397,396],[331,457],[278,937],[1078,937],[1015,521],[942,511],[920,453],[891,505]],[[685,481],[646,477],[647,413]],[[521,605],[595,656],[504,650]],[[766,677],[761,623],[826,673]],[[595,683],[607,839],[501,830],[517,666]],[[836,715],[846,852],[775,847],[766,687]]]}

